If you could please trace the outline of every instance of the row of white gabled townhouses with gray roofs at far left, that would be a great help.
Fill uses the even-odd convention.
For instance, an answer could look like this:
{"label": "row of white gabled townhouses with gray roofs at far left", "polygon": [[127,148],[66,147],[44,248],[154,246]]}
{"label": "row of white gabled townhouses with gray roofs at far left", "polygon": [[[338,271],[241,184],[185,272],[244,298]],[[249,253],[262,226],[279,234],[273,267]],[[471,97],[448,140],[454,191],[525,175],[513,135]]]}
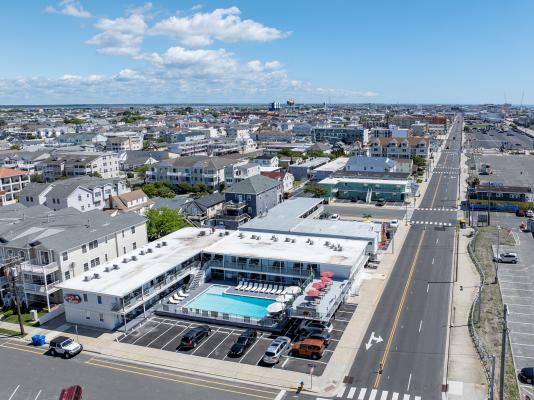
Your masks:
{"label": "row of white gabled townhouses with gray roofs at far left", "polygon": [[54,211],[72,207],[85,212],[111,208],[112,196],[130,191],[122,179],[78,176],[51,183],[31,183],[21,191],[19,201],[28,207],[42,204]]}

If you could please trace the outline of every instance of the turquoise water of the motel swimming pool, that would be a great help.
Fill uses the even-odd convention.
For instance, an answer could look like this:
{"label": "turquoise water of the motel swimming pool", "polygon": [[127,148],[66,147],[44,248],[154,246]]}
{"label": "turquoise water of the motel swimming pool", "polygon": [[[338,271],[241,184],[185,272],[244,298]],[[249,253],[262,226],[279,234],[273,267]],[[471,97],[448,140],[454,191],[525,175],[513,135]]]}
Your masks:
{"label": "turquoise water of the motel swimming pool", "polygon": [[227,286],[221,285],[210,286],[188,303],[187,307],[262,319],[268,314],[267,306],[274,303],[274,300],[269,299],[226,294],[226,288]]}

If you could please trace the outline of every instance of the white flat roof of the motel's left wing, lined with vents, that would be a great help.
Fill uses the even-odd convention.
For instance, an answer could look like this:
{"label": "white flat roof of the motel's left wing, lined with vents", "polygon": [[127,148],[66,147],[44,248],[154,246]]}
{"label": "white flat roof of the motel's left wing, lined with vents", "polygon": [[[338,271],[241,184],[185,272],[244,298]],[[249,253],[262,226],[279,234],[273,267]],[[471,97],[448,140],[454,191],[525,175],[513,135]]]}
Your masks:
{"label": "white flat roof of the motel's left wing, lined with vents", "polygon": [[[199,236],[200,231],[206,232],[206,235]],[[214,234],[211,234],[208,229],[180,229],[122,257],[99,265],[96,268],[91,268],[83,275],[60,283],[59,287],[64,291],[75,290],[123,297],[198,254],[205,247],[221,240],[223,237],[219,236],[220,232],[223,231],[217,230]],[[158,243],[164,241],[167,242],[166,246],[156,247]],[[152,253],[146,253],[149,248],[152,249]],[[140,255],[142,250],[145,251],[145,255]],[[135,261],[131,260],[134,255],[137,256]],[[131,261],[123,263],[123,258],[128,258]],[[119,269],[105,272],[106,267],[112,267],[113,264],[118,264]],[[85,275],[93,276],[95,273],[100,275],[100,279],[84,281]]]}

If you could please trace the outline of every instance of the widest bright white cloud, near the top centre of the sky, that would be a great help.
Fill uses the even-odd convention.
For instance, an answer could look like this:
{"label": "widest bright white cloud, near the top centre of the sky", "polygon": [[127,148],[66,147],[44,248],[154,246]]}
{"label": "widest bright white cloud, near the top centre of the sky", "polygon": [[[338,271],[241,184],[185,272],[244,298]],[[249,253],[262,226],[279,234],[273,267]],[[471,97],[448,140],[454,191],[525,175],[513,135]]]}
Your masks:
{"label": "widest bright white cloud, near the top centre of the sky", "polygon": [[173,16],[157,22],[149,33],[173,37],[188,47],[207,46],[215,40],[268,42],[289,34],[251,19],[243,20],[240,14],[239,8],[230,7],[185,17]]}

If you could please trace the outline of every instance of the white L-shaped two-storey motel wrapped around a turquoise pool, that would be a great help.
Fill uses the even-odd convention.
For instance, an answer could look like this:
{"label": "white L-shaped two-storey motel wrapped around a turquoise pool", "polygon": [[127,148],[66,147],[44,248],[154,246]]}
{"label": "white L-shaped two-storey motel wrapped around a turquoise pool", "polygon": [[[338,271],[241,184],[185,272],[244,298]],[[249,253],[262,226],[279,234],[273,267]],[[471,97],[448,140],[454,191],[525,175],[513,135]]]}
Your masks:
{"label": "white L-shaped two-storey motel wrapped around a turquoise pool", "polygon": [[66,320],[124,331],[151,313],[270,331],[327,321],[357,292],[367,245],[184,228],[63,282]]}

